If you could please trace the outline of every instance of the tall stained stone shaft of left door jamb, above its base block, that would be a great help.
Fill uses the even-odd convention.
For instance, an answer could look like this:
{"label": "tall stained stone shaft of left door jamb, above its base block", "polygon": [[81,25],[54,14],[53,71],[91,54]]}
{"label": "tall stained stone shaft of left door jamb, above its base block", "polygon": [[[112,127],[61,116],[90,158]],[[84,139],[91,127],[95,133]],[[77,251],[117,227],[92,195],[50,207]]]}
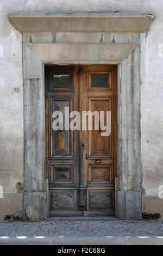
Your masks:
{"label": "tall stained stone shaft of left door jamb, above its base block", "polygon": [[[43,191],[45,182],[44,90],[40,79],[24,80],[24,191]],[[25,197],[26,198],[26,197]]]}

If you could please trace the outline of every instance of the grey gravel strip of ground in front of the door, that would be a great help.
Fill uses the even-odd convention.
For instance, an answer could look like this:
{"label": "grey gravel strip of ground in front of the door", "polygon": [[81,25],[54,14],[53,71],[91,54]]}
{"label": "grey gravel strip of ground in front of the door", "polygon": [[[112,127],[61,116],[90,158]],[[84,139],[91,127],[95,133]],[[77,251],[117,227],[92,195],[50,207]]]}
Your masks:
{"label": "grey gravel strip of ground in front of the door", "polygon": [[53,235],[123,235],[163,236],[163,222],[142,221],[4,221],[0,236],[53,236]]}

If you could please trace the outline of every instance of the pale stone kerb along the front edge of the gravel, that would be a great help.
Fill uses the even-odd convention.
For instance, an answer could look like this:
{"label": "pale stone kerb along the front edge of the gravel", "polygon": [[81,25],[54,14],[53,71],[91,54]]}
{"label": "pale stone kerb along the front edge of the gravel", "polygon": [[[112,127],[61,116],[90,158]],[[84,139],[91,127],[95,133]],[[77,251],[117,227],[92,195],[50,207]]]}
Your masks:
{"label": "pale stone kerb along the front edge of the gravel", "polygon": [[163,236],[1,236],[0,245],[163,245]]}

